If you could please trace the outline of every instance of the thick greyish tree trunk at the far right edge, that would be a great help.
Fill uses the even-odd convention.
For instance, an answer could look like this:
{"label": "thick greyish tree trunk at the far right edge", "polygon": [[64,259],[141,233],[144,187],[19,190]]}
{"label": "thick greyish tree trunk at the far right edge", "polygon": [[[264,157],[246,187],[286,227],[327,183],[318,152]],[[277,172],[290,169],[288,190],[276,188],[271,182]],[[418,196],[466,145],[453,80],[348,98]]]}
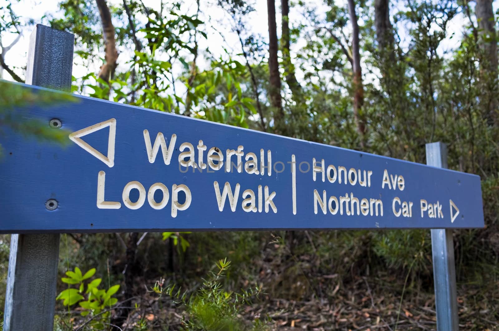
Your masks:
{"label": "thick greyish tree trunk at the far right edge", "polygon": [[497,36],[494,25],[494,9],[492,8],[492,0],[477,0],[475,6],[479,27],[479,44],[480,44],[480,79],[482,80],[483,93],[480,99],[480,104],[484,111],[484,116],[490,125],[498,124],[497,115],[497,88],[496,82],[498,78],[498,50]]}

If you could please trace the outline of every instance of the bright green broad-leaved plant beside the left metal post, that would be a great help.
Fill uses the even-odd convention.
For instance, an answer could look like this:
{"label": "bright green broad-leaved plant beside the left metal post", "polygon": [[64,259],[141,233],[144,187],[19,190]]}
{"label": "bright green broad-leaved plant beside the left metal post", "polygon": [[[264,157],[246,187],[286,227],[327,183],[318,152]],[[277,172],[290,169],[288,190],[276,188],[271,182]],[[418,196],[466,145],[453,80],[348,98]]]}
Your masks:
{"label": "bright green broad-leaved plant beside the left metal post", "polygon": [[[118,291],[120,285],[113,285],[107,290],[99,289],[102,279],[94,278],[91,280],[94,274],[95,268],[82,273],[77,266],[74,271],[66,271],[67,277],[62,277],[61,281],[68,284],[68,288],[61,291],[56,299],[62,300],[62,304],[68,308],[78,303],[83,308],[81,311],[82,316],[98,317],[89,324],[95,328],[102,328],[102,321],[106,320],[110,315],[109,308],[118,302],[118,299],[113,295]],[[71,285],[75,287],[71,287]]]}

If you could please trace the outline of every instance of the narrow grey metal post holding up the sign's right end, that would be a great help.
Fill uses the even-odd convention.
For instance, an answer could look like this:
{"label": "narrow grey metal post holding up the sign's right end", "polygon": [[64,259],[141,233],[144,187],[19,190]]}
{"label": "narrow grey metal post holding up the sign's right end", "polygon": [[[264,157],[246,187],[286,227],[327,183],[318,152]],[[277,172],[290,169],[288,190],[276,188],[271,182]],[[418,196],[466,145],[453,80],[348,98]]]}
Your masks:
{"label": "narrow grey metal post holding up the sign's right end", "polygon": [[[427,143],[426,164],[447,168],[446,144]],[[437,228],[431,233],[437,330],[454,331],[459,329],[459,323],[452,229]]]}

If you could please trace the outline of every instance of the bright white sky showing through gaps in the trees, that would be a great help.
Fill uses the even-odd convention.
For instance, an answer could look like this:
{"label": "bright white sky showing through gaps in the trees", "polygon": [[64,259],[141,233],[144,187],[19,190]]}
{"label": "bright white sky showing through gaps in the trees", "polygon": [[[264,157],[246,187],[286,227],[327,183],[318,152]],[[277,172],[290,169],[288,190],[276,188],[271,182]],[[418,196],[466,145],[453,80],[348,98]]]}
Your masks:
{"label": "bright white sky showing through gaps in the trees", "polygon": [[[32,23],[42,23],[42,24],[48,24],[48,19],[47,16],[53,16],[53,17],[61,17],[62,13],[59,8],[59,1],[58,0],[20,0],[20,1],[8,1],[8,0],[0,0],[1,2],[11,2],[12,4],[12,9],[14,12],[20,16],[20,20],[22,22],[27,22],[31,21]],[[144,3],[148,6],[151,7],[158,7],[159,2],[157,0],[145,0]],[[247,28],[254,34],[260,35],[263,39],[267,40],[268,39],[268,33],[267,33],[267,11],[266,11],[266,1],[265,0],[252,0],[250,1],[253,3],[253,7],[255,8],[255,11],[251,12],[248,15],[248,24]],[[324,6],[324,4],[321,1],[317,0],[309,0],[305,1],[310,3],[311,5],[321,7]],[[338,2],[343,2],[344,5],[346,6],[346,1],[338,1]],[[111,0],[109,1],[110,4],[115,4],[119,5],[121,1],[119,0]],[[4,5],[5,5],[4,4]],[[339,4],[338,4],[339,5]],[[397,8],[403,9],[403,4],[398,3]],[[495,8],[499,6],[499,1],[494,2]],[[209,38],[206,46],[209,46],[212,52],[222,52],[222,48],[219,47],[217,49],[217,45],[222,45],[224,44],[226,47],[233,48],[236,52],[240,52],[240,45],[239,45],[239,40],[236,35],[236,33],[233,30],[233,25],[234,22],[232,19],[227,15],[226,12],[224,12],[223,9],[221,9],[219,6],[217,6],[217,1],[216,0],[208,0],[208,1],[202,1],[201,2],[201,15],[205,16],[203,17],[205,22],[207,24],[212,25],[214,28],[209,29]],[[187,0],[183,4],[182,7],[183,10],[186,11],[186,13],[191,13],[194,14],[196,12],[196,1],[194,0]],[[279,10],[277,10],[276,13],[277,16],[277,25],[280,25],[280,13]],[[295,10],[295,8],[291,8],[291,13],[290,13],[290,23],[291,24],[297,24],[300,20],[303,20],[303,17],[299,12]],[[439,47],[439,53],[442,55],[446,51],[452,50],[456,48],[459,45],[459,42],[461,40],[462,32],[463,32],[463,21],[466,21],[467,19],[464,17],[463,14],[458,14],[456,17],[454,17],[450,22],[449,22],[449,27],[448,27],[448,35],[446,39],[441,43]],[[362,22],[359,22],[362,24]],[[404,26],[403,23],[398,24],[398,28],[400,29],[400,36],[401,36],[401,46],[402,47],[407,47],[408,42],[410,38],[407,36],[407,28]],[[280,30],[280,28],[278,28]],[[15,31],[12,29],[12,31]],[[16,72],[18,74],[21,74],[23,76],[23,70],[20,68],[25,67],[26,65],[26,52],[28,49],[28,39],[29,39],[29,33],[31,30],[28,28],[25,28],[22,31],[22,36],[20,37],[19,41],[7,52],[5,55],[5,61],[9,65],[13,66],[16,68]],[[14,40],[16,37],[16,33],[3,33],[1,35],[1,40],[2,43],[9,44],[12,40]],[[200,41],[203,42],[203,41]],[[296,49],[297,47],[300,47],[303,45],[306,41],[305,40],[297,40],[297,42],[293,45],[291,45],[292,49]],[[127,49],[118,49],[119,52],[127,52]],[[76,63],[75,63],[76,64]],[[95,67],[93,68],[96,72],[99,69],[99,63],[95,63]],[[118,65],[123,65],[123,63],[118,63]],[[73,75],[75,77],[82,76],[86,74],[88,71],[87,67],[82,67],[81,65],[75,65],[73,68]],[[298,72],[299,74],[299,72]],[[10,79],[10,76],[7,72],[3,72],[3,77],[5,79]]]}

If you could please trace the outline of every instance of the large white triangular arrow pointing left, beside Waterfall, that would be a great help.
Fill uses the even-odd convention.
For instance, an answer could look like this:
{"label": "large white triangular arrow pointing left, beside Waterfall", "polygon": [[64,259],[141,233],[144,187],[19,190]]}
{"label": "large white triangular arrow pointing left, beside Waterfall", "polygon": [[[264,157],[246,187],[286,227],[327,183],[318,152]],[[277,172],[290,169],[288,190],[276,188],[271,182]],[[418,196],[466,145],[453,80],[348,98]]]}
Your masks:
{"label": "large white triangular arrow pointing left, beside Waterfall", "polygon": [[[82,136],[100,130],[101,128],[109,126],[109,137],[107,140],[107,156],[104,156],[100,151],[90,146],[87,142],[81,139]],[[94,155],[102,162],[106,163],[109,167],[114,166],[114,140],[116,137],[116,118],[111,118],[103,122],[90,125],[69,134],[69,139],[73,140],[78,146]]]}

